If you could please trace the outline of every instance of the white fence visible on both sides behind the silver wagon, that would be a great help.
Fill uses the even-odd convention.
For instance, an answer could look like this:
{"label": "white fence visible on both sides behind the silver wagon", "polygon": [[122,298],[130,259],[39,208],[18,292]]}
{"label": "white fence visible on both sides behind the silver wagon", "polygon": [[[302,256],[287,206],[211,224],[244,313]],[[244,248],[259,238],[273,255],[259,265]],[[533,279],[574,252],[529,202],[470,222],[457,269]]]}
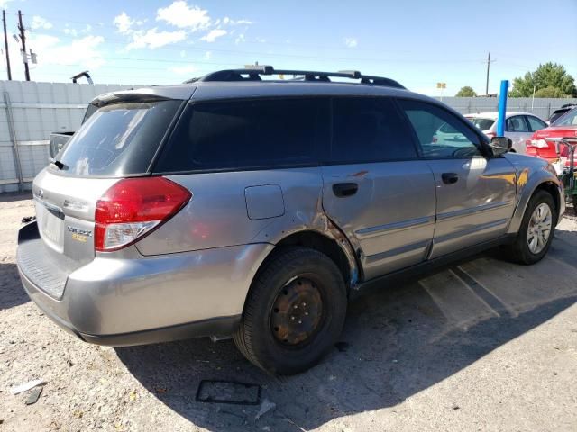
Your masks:
{"label": "white fence visible on both sides behind the silver wagon", "polygon": [[[56,84],[0,81],[0,192],[30,189],[34,175],[48,163],[51,132],[77,130],[96,95],[133,85]],[[444,97],[462,113],[497,111],[499,99]],[[577,99],[509,98],[508,111],[534,112],[543,119]]]}

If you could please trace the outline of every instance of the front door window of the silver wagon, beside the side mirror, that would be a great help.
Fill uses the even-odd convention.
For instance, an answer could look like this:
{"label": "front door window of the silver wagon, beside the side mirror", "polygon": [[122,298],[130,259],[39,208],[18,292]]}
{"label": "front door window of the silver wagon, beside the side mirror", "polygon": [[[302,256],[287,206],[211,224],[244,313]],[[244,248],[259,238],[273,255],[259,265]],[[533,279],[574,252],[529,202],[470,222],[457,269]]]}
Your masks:
{"label": "front door window of the silver wagon, beside the side mirror", "polygon": [[423,157],[429,159],[480,156],[479,137],[452,113],[431,104],[398,101],[407,114]]}

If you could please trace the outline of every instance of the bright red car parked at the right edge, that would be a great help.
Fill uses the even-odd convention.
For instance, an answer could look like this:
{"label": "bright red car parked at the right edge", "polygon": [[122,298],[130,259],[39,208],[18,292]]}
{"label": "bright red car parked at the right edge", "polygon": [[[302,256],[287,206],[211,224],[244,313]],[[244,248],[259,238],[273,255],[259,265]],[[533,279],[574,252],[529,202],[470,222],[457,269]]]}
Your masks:
{"label": "bright red car parked at the right edge", "polygon": [[[527,139],[527,155],[545,159],[550,163],[556,162],[557,149],[551,138],[577,137],[577,108],[565,112],[548,128],[537,130],[530,139]],[[569,152],[566,147],[561,148],[561,157],[567,158]],[[577,155],[575,155],[577,156]]]}

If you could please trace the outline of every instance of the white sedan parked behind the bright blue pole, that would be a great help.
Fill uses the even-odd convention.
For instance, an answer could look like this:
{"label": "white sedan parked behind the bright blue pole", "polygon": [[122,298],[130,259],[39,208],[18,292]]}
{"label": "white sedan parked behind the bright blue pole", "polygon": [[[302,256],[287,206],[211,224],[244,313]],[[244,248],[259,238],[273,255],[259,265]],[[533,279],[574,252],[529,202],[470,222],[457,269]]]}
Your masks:
{"label": "white sedan parked behind the bright blue pole", "polygon": [[[465,114],[465,118],[483,131],[489,138],[497,136],[497,119],[499,112],[481,112]],[[513,141],[516,153],[525,154],[525,141],[536,130],[547,127],[547,123],[529,112],[507,112],[505,116],[505,136]]]}

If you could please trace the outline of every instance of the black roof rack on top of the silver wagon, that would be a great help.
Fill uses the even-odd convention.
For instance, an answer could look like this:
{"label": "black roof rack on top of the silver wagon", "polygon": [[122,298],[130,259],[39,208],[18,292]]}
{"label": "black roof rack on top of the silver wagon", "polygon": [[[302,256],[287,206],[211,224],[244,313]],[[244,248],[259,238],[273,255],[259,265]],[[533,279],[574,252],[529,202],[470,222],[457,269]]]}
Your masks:
{"label": "black roof rack on top of the silver wagon", "polygon": [[212,81],[262,81],[261,76],[270,75],[292,75],[292,76],[303,76],[304,81],[314,81],[314,82],[331,82],[330,78],[349,78],[349,79],[359,79],[361,84],[371,84],[371,85],[385,85],[388,87],[395,88],[405,88],[404,86],[398,84],[397,81],[390,78],[385,78],[382,76],[368,76],[362,75],[358,70],[340,70],[338,72],[318,72],[313,70],[289,70],[289,69],[275,69],[272,66],[264,65],[249,65],[245,66],[243,69],[225,69],[212,72],[206,76],[200,78],[192,78],[185,83],[194,82],[212,82]]}

